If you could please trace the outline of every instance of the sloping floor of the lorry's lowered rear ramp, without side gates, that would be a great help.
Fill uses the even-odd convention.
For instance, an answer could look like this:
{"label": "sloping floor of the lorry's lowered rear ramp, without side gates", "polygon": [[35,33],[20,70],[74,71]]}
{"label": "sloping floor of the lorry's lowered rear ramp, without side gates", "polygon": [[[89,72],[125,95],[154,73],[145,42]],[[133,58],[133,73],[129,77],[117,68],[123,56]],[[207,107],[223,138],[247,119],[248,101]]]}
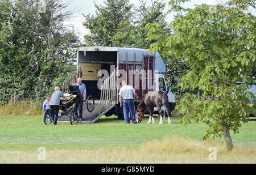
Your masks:
{"label": "sloping floor of the lorry's lowered rear ramp, without side gates", "polygon": [[[104,112],[99,114],[99,109],[100,109],[100,103],[98,100],[95,101],[95,105],[94,105],[94,110],[92,112],[89,112],[86,108],[86,104],[84,103],[82,105],[82,121],[79,121],[79,123],[94,123],[96,122],[99,118],[101,118],[102,116],[104,116],[105,113],[107,113],[109,110],[111,110],[112,108],[114,108],[115,104],[113,104],[112,106],[110,106],[108,109],[104,110]],[[68,116],[70,116],[71,112],[73,110],[73,107],[67,110],[67,114]],[[79,109],[77,109],[77,113],[79,114]],[[62,114],[57,122],[70,122],[69,118],[67,115]]]}

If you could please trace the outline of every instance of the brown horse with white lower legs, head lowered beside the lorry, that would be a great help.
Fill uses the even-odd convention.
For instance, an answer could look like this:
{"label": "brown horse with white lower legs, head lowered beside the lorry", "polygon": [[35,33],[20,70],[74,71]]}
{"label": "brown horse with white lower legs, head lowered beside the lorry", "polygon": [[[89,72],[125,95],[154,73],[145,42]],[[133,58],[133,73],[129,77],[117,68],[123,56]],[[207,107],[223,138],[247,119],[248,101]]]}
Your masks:
{"label": "brown horse with white lower legs, head lowered beside the lorry", "polygon": [[[164,91],[149,91],[142,97],[137,109],[138,122],[141,122],[142,119],[144,118],[144,110],[147,108],[150,112],[150,118],[148,119],[147,123],[151,123],[151,117],[152,117],[152,124],[154,124],[155,119],[153,117],[153,112],[154,112],[154,108],[157,107],[160,115],[159,125],[163,124],[161,106],[164,106],[166,108],[165,111],[167,111],[168,123],[170,124],[171,110],[169,108],[167,93]],[[165,111],[164,111],[164,117],[165,117]]]}

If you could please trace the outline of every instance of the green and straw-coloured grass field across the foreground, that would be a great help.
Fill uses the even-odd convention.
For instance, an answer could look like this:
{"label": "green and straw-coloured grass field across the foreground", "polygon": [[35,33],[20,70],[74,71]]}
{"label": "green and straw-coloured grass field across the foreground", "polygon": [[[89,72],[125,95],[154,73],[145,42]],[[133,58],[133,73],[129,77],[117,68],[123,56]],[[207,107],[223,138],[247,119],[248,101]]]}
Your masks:
{"label": "green and straw-coloured grass field across the foreground", "polygon": [[[163,125],[127,125],[117,117],[102,117],[94,124],[44,125],[43,117],[0,117],[0,163],[256,163],[254,121],[233,134],[234,150],[226,152],[224,139],[201,141],[207,126],[181,126],[167,118]],[[45,160],[40,150],[45,149]],[[209,148],[217,159],[209,160]]]}

